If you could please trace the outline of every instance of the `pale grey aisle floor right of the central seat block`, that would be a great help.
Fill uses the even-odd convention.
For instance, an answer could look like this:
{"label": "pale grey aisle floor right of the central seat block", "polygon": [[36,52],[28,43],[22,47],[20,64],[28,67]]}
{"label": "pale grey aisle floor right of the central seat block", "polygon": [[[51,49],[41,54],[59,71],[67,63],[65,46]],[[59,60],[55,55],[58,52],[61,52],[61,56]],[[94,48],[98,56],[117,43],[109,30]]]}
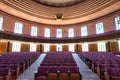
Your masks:
{"label": "pale grey aisle floor right of the central seat block", "polygon": [[78,57],[77,54],[73,54],[73,57],[77,62],[77,66],[79,66],[82,80],[100,80],[99,77],[88,68],[88,66]]}

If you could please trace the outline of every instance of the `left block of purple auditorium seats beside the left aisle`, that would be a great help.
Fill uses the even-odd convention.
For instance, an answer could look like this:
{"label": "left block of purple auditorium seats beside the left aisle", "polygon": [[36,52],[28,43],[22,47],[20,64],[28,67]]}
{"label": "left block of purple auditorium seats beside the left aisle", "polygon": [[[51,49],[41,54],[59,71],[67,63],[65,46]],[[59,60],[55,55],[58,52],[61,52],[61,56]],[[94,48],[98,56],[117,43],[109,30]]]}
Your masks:
{"label": "left block of purple auditorium seats beside the left aisle", "polygon": [[38,57],[36,52],[10,52],[0,56],[0,80],[16,80]]}

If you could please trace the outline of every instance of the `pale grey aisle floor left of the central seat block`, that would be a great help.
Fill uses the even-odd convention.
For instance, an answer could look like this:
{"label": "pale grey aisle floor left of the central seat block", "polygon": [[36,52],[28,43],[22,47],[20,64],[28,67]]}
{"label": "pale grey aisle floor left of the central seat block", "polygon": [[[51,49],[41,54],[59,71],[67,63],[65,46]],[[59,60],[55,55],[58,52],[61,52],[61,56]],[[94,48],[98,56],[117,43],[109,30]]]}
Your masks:
{"label": "pale grey aisle floor left of the central seat block", "polygon": [[25,70],[17,80],[34,80],[34,73],[37,71],[38,66],[40,66],[40,63],[44,59],[46,54],[41,54],[39,58],[27,69]]}

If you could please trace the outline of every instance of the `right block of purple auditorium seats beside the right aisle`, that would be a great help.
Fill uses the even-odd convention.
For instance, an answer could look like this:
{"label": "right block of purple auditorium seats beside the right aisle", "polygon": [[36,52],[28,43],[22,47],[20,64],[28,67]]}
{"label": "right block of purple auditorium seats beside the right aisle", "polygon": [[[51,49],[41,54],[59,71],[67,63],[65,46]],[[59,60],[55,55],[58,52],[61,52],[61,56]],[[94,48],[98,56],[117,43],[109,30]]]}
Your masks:
{"label": "right block of purple auditorium seats beside the right aisle", "polygon": [[120,57],[111,52],[79,52],[78,56],[101,79],[120,80]]}

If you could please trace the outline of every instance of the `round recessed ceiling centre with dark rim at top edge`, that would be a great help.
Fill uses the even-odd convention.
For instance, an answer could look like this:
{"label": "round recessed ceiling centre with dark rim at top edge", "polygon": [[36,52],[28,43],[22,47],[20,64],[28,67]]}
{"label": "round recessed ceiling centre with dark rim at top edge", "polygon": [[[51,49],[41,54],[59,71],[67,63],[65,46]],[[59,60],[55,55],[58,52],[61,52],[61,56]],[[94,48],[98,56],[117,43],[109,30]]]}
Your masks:
{"label": "round recessed ceiling centre with dark rim at top edge", "polygon": [[68,7],[78,4],[84,0],[33,0],[33,1],[50,7]]}

